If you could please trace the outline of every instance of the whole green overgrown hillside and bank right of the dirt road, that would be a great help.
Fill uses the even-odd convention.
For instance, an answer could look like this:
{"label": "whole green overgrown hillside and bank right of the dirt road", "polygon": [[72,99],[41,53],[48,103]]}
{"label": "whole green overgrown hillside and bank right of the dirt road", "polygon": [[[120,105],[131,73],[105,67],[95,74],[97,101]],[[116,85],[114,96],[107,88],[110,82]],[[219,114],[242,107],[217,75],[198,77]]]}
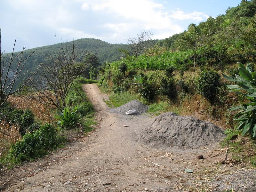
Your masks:
{"label": "whole green overgrown hillside and bank right of the dirt road", "polygon": [[121,60],[102,66],[98,86],[109,95],[109,106],[137,99],[156,115],[174,111],[218,123],[227,130],[224,145],[235,147],[234,158],[253,164],[255,24],[256,1],[241,1],[140,54],[127,50]]}

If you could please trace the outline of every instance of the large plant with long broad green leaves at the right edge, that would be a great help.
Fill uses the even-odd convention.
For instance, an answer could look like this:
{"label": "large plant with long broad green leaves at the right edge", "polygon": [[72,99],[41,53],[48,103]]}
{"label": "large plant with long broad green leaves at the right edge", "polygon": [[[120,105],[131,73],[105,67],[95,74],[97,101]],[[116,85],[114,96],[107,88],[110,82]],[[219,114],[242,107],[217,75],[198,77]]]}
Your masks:
{"label": "large plant with long broad green leaves at the right edge", "polygon": [[238,121],[237,129],[241,130],[242,135],[249,133],[256,138],[256,72],[250,63],[246,67],[242,63],[238,65],[239,75],[236,75],[236,79],[222,73],[228,81],[236,83],[227,85],[229,92],[235,92],[242,100],[242,105],[229,108],[228,111],[238,110],[234,117]]}

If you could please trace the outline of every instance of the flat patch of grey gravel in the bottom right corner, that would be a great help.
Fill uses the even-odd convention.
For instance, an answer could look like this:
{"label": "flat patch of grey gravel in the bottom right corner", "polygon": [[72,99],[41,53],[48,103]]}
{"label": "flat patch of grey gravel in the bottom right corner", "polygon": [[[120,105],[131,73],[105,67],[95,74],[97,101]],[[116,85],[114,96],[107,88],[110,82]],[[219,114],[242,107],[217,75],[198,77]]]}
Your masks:
{"label": "flat patch of grey gravel in the bottom right corner", "polygon": [[[256,169],[240,170],[236,173],[217,175],[209,182],[213,191],[236,191],[255,192],[256,191]],[[233,189],[233,190],[232,190]]]}

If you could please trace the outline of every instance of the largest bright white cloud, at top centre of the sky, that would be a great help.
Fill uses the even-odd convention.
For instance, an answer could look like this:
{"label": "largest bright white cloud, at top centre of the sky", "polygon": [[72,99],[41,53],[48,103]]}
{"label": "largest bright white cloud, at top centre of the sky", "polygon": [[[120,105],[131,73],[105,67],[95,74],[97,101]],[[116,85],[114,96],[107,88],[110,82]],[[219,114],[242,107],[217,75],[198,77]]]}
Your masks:
{"label": "largest bright white cloud, at top centre of the sky", "polygon": [[164,11],[163,4],[152,0],[96,0],[86,3],[96,14],[104,12],[110,18],[118,17],[121,20],[111,20],[112,22],[103,25],[112,30],[116,38],[120,37],[119,34],[127,38],[142,30],[152,31],[155,34],[153,38],[163,37],[161,34],[168,34],[164,37],[169,37],[182,31],[179,25],[172,22],[168,12]]}

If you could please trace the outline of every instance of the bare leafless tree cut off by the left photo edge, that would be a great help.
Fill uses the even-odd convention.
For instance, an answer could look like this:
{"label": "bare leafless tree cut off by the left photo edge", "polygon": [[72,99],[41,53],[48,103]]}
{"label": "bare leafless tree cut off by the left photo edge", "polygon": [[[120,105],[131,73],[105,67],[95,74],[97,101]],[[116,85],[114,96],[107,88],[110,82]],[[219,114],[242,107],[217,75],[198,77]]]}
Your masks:
{"label": "bare leafless tree cut off by the left photo edge", "polygon": [[[22,51],[15,54],[14,48],[16,39],[14,41],[12,53],[8,54],[5,58],[4,52],[1,51],[1,34],[2,30],[0,29],[0,113],[7,109],[4,106],[9,96],[22,90],[33,79],[41,67],[41,64],[38,65],[34,72],[24,69],[25,61],[35,51],[24,58],[23,53],[25,47],[23,46]],[[17,83],[19,83],[18,88]]]}

